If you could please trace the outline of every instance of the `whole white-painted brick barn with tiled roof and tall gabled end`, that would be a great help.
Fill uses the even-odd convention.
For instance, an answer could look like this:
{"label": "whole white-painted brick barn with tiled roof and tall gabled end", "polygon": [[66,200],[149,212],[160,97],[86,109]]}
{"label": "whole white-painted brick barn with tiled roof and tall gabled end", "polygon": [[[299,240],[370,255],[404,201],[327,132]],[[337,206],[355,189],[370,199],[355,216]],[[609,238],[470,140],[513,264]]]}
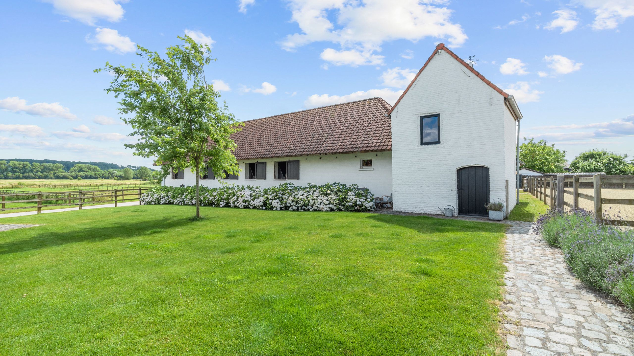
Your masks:
{"label": "whole white-painted brick barn with tiled roof and tall gabled end", "polygon": [[[394,106],[372,98],[246,121],[232,135],[241,174],[205,174],[200,184],[341,182],[393,192],[402,212],[451,205],[486,215],[485,203],[502,201],[508,215],[521,118],[513,96],[439,44]],[[195,177],[186,169],[164,183],[193,185]]]}

